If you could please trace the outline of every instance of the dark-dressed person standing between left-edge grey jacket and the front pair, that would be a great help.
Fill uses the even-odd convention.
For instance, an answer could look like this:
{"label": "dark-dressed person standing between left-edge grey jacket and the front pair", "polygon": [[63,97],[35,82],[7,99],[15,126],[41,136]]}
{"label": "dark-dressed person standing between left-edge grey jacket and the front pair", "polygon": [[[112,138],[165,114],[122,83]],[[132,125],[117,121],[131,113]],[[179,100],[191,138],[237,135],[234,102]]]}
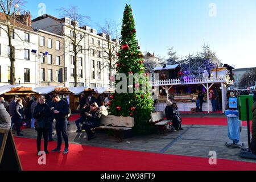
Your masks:
{"label": "dark-dressed person standing between left-edge grey jacket and the front pair", "polygon": [[17,137],[22,137],[23,134],[20,133],[20,126],[22,125],[22,119],[24,114],[24,106],[22,104],[22,99],[18,99],[15,105],[14,111],[14,123],[16,126]]}

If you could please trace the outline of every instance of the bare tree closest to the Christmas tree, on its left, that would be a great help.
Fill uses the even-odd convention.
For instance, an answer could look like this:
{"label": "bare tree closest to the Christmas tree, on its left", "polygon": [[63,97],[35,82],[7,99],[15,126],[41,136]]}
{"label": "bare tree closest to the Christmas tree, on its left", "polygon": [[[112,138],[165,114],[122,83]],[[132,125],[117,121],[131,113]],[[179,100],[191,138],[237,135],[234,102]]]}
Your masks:
{"label": "bare tree closest to the Christmas tree, on its left", "polygon": [[[111,74],[112,69],[115,68],[115,64],[117,63],[117,59],[115,59],[115,55],[118,52],[119,47],[119,24],[115,23],[112,20],[105,20],[105,24],[103,27],[100,27],[100,31],[102,32],[102,57],[104,59],[103,67],[109,69],[109,73]],[[111,86],[110,80],[110,86]]]}

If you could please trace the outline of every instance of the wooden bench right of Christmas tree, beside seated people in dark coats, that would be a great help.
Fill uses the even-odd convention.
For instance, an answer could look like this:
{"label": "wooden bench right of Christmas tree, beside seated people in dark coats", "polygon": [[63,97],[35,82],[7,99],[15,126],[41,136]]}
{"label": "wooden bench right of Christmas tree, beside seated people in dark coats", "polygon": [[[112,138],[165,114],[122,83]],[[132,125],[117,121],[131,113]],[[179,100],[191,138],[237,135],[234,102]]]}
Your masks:
{"label": "wooden bench right of Christmas tree, beside seated people in dark coats", "polygon": [[167,130],[172,130],[171,120],[166,120],[166,113],[164,111],[151,113],[151,122],[159,128],[160,133],[165,133]]}

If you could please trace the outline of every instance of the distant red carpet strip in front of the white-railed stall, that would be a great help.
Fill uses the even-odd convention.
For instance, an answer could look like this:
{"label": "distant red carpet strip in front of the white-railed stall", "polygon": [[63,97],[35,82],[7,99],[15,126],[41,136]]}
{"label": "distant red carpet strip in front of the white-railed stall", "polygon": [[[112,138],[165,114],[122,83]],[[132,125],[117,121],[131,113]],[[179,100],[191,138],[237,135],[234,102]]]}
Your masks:
{"label": "distant red carpet strip in front of the white-railed stall", "polygon": [[[227,126],[227,118],[182,118],[183,125],[217,125]],[[251,126],[252,122],[250,122]],[[242,126],[247,126],[246,121],[242,121]]]}

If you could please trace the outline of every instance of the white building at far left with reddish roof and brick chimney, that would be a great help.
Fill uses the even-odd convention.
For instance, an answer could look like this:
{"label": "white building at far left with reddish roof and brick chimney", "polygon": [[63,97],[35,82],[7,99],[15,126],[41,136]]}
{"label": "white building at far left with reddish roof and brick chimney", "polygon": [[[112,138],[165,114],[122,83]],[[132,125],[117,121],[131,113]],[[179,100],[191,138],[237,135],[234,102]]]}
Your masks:
{"label": "white building at far left with reddish roof and brick chimney", "polygon": [[[10,84],[10,48],[5,23],[5,15],[0,13],[0,86]],[[17,16],[11,24],[14,25],[11,41],[15,47],[16,84],[35,87],[39,82],[38,59],[33,52],[38,51],[39,33],[31,27],[30,13]]]}

